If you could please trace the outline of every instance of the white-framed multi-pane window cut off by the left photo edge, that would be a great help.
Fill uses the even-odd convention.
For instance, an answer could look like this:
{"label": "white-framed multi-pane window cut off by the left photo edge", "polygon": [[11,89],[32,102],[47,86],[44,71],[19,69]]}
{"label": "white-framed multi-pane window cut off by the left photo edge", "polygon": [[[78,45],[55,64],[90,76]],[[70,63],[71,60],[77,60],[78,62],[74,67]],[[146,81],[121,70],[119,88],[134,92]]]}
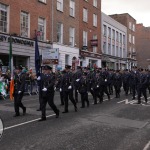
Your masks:
{"label": "white-framed multi-pane window cut off by the left photo edge", "polygon": [[0,3],[0,32],[8,32],[8,6]]}

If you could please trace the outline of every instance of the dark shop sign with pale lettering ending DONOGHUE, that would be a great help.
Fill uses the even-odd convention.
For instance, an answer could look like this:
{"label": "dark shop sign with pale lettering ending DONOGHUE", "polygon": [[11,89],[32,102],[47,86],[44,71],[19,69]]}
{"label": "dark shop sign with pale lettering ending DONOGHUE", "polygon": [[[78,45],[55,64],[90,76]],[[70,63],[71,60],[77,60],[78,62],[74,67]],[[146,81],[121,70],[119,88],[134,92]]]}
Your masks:
{"label": "dark shop sign with pale lettering ending DONOGHUE", "polygon": [[[21,45],[27,45],[27,46],[34,46],[34,41],[30,41],[23,38],[13,37],[11,36],[12,43],[21,44]],[[0,42],[10,42],[10,36],[0,34]]]}

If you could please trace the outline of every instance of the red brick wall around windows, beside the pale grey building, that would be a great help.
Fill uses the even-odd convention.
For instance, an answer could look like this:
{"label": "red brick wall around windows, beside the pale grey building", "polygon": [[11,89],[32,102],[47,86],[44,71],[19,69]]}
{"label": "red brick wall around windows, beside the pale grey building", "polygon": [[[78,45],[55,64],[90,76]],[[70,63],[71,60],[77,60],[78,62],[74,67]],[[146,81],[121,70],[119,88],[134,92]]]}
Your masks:
{"label": "red brick wall around windows, beside the pale grey building", "polygon": [[[97,1],[97,8],[93,6],[93,0],[88,2],[80,1],[80,12],[79,12],[79,48],[83,46],[83,31],[88,32],[88,51],[93,51],[90,40],[93,39],[93,35],[97,35],[98,38],[98,53],[101,53],[101,0]],[[88,22],[83,21],[83,8],[88,9]],[[93,14],[97,14],[97,27],[93,26]]]}

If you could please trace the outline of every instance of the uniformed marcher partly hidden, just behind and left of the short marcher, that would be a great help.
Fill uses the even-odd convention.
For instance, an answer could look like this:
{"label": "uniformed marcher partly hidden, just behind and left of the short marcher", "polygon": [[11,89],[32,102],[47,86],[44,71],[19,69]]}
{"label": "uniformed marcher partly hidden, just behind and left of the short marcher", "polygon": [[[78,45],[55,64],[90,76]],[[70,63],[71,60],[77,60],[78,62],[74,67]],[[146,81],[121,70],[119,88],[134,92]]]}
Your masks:
{"label": "uniformed marcher partly hidden, just behind and left of the short marcher", "polygon": [[74,88],[75,88],[75,100],[78,102],[78,90],[79,90],[79,80],[82,76],[82,68],[77,66],[77,72],[74,74]]}

